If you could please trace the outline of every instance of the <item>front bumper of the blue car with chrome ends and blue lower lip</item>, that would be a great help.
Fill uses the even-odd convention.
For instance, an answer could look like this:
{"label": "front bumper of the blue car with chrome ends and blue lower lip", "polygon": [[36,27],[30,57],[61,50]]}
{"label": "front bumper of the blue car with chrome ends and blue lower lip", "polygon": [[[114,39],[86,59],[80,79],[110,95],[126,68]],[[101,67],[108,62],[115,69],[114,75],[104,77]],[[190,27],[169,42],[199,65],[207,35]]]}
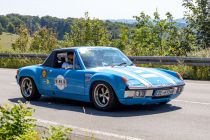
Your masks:
{"label": "front bumper of the blue car with chrome ends and blue lower lip", "polygon": [[[156,90],[173,89],[173,92],[169,95],[156,96]],[[155,104],[160,102],[169,102],[170,100],[178,97],[184,89],[184,85],[157,88],[157,89],[128,89],[124,93],[124,98],[119,99],[119,102],[124,105],[136,105],[136,104]],[[136,91],[144,91],[142,94],[138,93],[136,96]],[[132,96],[133,94],[133,96]]]}

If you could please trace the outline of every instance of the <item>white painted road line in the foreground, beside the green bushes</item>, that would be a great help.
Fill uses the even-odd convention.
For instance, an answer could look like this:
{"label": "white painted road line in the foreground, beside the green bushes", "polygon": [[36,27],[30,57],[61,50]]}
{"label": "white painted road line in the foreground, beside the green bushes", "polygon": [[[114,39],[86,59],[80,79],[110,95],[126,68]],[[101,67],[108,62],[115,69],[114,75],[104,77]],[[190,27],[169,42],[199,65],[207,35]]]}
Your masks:
{"label": "white painted road line in the foreground, beside the green bushes", "polygon": [[33,118],[33,119],[36,119],[39,123],[72,128],[73,131],[74,130],[78,130],[78,131],[82,131],[82,132],[86,132],[86,133],[90,133],[90,134],[98,134],[98,135],[103,135],[103,136],[108,136],[108,137],[113,137],[113,138],[123,139],[123,140],[143,140],[141,138],[135,138],[135,137],[130,137],[130,136],[123,136],[123,135],[119,135],[119,134],[103,132],[103,131],[98,131],[98,130],[90,130],[90,129],[87,129],[87,128],[81,128],[81,127],[77,127],[77,126],[73,126],[73,125],[57,123],[57,122],[48,121],[48,120],[42,120],[42,119],[37,119],[37,118]]}

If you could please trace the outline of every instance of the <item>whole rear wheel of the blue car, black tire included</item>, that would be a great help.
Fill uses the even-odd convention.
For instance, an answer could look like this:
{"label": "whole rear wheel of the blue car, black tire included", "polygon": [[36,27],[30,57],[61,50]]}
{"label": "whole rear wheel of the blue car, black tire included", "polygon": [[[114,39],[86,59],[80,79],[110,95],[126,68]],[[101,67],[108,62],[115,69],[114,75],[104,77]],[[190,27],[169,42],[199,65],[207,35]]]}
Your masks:
{"label": "whole rear wheel of the blue car, black tire included", "polygon": [[23,77],[21,79],[20,90],[22,96],[28,101],[38,100],[41,97],[41,94],[38,92],[33,79],[30,77]]}

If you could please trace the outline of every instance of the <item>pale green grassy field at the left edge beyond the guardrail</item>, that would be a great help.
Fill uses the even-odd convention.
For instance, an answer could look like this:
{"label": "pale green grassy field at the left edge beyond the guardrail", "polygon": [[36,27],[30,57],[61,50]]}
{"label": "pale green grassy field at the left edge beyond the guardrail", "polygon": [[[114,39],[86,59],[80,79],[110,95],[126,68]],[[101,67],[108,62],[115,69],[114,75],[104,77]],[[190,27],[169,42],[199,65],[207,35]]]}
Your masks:
{"label": "pale green grassy field at the left edge beyond the guardrail", "polygon": [[10,49],[12,43],[14,43],[17,38],[18,35],[16,34],[3,32],[2,35],[0,35],[0,48]]}

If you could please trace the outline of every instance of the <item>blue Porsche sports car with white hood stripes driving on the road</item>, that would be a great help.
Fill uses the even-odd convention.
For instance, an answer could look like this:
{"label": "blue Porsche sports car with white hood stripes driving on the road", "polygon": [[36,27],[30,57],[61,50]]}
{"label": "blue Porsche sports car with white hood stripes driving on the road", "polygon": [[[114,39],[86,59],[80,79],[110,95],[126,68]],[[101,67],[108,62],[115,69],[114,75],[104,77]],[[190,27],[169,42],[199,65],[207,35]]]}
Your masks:
{"label": "blue Porsche sports car with white hood stripes driving on the road", "polygon": [[166,104],[183,91],[177,72],[136,67],[112,47],[56,49],[43,64],[19,68],[16,76],[22,96],[44,96],[92,102],[100,110],[117,103]]}

